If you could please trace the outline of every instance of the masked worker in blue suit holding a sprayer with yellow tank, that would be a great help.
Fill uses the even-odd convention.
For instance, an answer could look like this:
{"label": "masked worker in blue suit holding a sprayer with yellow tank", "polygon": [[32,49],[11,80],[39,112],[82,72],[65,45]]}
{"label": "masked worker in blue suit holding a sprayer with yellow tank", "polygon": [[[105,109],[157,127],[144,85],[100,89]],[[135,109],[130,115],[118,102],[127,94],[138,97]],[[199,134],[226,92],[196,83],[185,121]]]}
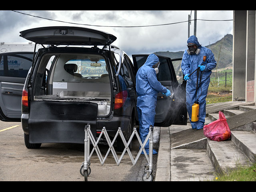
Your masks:
{"label": "masked worker in blue suit holding a sprayer with yellow tank", "polygon": [[[192,35],[187,41],[188,49],[184,51],[181,69],[184,74],[186,85],[186,106],[192,129],[202,129],[206,116],[206,96],[210,84],[212,69],[216,67],[216,60],[212,51],[199,44],[196,36]],[[198,91],[196,95],[197,75],[194,72],[200,68],[198,76]],[[190,73],[194,72],[190,77]],[[195,101],[199,102],[199,118],[197,122],[191,121],[192,105]]]}

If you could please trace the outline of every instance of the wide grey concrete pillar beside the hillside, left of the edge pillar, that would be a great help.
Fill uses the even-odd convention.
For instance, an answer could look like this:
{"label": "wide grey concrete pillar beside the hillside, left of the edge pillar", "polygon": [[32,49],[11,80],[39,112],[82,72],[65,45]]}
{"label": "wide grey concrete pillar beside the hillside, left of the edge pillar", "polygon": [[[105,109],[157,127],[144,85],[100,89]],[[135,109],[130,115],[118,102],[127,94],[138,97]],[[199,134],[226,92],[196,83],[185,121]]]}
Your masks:
{"label": "wide grey concrete pillar beside the hillside, left of the edge pillar", "polygon": [[232,100],[245,101],[247,11],[234,10],[233,17],[234,17],[234,20],[233,20]]}

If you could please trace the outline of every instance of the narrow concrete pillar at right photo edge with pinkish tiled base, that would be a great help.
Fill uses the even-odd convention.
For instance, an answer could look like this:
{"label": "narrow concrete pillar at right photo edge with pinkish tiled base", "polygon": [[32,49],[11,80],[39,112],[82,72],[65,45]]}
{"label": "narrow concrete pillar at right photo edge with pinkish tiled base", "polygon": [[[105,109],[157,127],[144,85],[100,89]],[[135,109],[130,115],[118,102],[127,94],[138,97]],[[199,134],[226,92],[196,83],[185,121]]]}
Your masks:
{"label": "narrow concrete pillar at right photo edge with pinkish tiled base", "polygon": [[255,75],[255,10],[247,11],[246,22],[246,97],[247,102],[254,101]]}

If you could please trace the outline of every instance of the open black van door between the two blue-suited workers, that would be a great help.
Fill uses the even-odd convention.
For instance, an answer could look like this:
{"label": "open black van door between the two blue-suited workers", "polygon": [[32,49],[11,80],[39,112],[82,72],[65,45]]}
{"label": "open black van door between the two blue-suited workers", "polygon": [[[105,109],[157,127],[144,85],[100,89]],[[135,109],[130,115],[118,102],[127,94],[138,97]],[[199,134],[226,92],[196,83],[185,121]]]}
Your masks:
{"label": "open black van door between the two blue-suited workers", "polygon": [[[146,62],[148,55],[132,55],[135,72]],[[158,93],[155,115],[155,126],[167,127],[172,124],[187,124],[186,109],[186,82],[179,86],[172,60],[168,57],[158,56],[160,66],[156,75],[157,80],[171,91],[173,98]],[[181,61],[181,58],[180,58]]]}

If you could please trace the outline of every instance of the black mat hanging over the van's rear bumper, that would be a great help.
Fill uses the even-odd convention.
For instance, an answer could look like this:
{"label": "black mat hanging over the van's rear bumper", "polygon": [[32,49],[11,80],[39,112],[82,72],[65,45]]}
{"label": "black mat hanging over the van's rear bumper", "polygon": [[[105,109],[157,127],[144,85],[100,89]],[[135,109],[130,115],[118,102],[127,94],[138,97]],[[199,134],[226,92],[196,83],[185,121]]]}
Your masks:
{"label": "black mat hanging over the van's rear bumper", "polygon": [[30,114],[22,114],[22,128],[32,144],[84,143],[87,123],[96,138],[97,110],[90,102],[31,102]]}

